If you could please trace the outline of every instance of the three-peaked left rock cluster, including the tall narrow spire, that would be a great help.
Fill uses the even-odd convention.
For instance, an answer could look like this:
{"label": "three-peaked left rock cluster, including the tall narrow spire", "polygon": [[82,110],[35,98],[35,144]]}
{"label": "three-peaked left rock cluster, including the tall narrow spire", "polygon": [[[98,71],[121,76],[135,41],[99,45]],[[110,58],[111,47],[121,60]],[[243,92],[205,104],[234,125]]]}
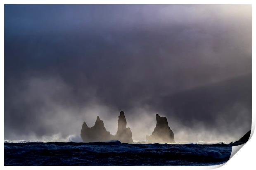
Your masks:
{"label": "three-peaked left rock cluster, including the tall narrow spire", "polygon": [[110,132],[104,127],[104,123],[100,120],[100,117],[97,116],[95,125],[88,127],[85,122],[83,122],[81,130],[81,138],[83,142],[107,142],[110,140],[119,140],[123,143],[133,143],[132,132],[130,127],[126,128],[126,117],[124,112],[120,112],[118,119],[118,129],[116,135],[111,135]]}

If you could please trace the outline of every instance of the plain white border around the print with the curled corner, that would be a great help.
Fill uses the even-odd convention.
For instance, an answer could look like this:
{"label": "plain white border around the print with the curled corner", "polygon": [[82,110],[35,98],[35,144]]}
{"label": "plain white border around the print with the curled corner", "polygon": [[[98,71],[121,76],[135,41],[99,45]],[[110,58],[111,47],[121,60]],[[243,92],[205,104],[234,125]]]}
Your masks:
{"label": "plain white border around the print with the curled corner", "polygon": [[[1,34],[2,34],[2,40],[0,45],[0,52],[2,54],[1,59],[1,67],[0,67],[0,76],[1,76],[1,110],[2,110],[2,128],[1,128],[1,136],[2,136],[2,142],[4,142],[4,4],[252,4],[252,30],[255,28],[255,12],[254,12],[254,5],[253,0],[2,0],[1,5],[1,13],[0,13],[0,20],[2,23],[2,26],[0,27]],[[255,34],[252,31],[252,56],[254,56],[254,40],[255,40]],[[254,66],[256,66],[256,61],[254,57],[252,57],[252,127],[251,127],[251,136],[249,142],[244,144],[243,149],[239,151],[239,153],[235,154],[232,159],[230,159],[225,166],[221,165],[214,165],[214,166],[87,166],[86,169],[98,169],[98,168],[104,168],[106,170],[118,170],[120,168],[124,170],[130,170],[130,168],[133,169],[147,169],[147,170],[153,170],[155,168],[161,168],[161,169],[213,169],[213,168],[219,168],[222,169],[231,169],[231,168],[251,168],[254,167],[254,152],[255,149],[255,141],[256,138],[252,137],[255,129],[255,90],[254,87],[256,87],[256,80],[254,76]],[[4,147],[1,147],[1,158],[2,166],[4,166]],[[28,170],[28,169],[35,169],[34,166],[4,166],[5,169],[16,169],[19,168],[21,170]],[[44,166],[38,166],[36,167],[38,169],[45,169]],[[47,166],[47,168],[50,169],[84,169],[83,166]]]}

